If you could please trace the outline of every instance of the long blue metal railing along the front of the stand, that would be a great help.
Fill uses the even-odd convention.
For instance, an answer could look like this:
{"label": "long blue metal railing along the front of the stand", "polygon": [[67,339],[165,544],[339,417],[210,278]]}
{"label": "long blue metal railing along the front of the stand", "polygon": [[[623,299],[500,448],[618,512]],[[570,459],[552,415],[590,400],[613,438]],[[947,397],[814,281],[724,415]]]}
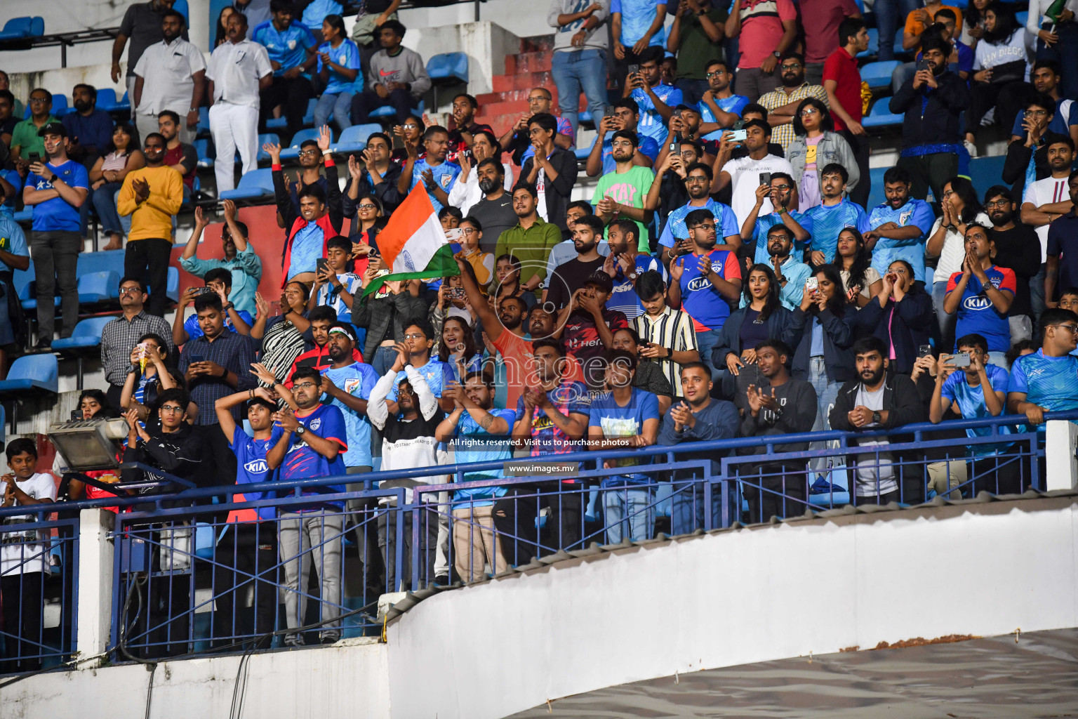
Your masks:
{"label": "long blue metal railing along the front of the stand", "polygon": [[[1076,418],[1078,412],[1046,415]],[[969,428],[991,433],[937,437]],[[866,444],[883,439],[889,443]],[[776,446],[807,443],[824,446],[776,452]],[[1042,443],[1044,435],[1024,417],[1005,416],[890,432],[810,432],[509,460],[578,466],[575,476],[538,471],[505,476],[507,462],[487,461],[120,496],[59,508],[135,510],[122,511],[111,534],[109,647],[113,661],[153,661],[376,635],[383,594],[416,591],[454,575],[466,582],[481,580],[534,557],[593,543],[708,530],[846,503],[914,504],[935,495],[955,499],[981,490],[1042,489]],[[973,454],[976,448],[983,453]],[[762,454],[748,454],[754,451]],[[496,474],[465,481],[482,472]],[[865,481],[871,472],[888,481],[873,486]],[[326,488],[349,482],[363,488]],[[393,486],[400,483],[409,487]],[[239,493],[276,496],[236,502]],[[0,509],[0,521],[31,511],[43,516],[50,510]],[[64,536],[53,544],[64,545],[60,554],[70,557],[77,572],[78,526],[72,523],[34,526]],[[73,581],[65,579],[69,587]],[[71,652],[74,594],[67,591],[60,604],[64,641],[47,644],[38,633],[31,637],[33,651],[16,659],[63,660]],[[20,639],[9,634],[9,641]]]}

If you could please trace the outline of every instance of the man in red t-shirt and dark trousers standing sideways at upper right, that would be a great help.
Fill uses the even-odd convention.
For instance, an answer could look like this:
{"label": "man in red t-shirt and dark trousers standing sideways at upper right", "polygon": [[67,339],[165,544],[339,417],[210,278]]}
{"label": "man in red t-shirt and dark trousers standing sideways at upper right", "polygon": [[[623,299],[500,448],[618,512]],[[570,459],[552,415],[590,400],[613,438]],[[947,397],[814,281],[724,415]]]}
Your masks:
{"label": "man in red t-shirt and dark trousers standing sideways at upper right", "polygon": [[849,199],[861,207],[869,199],[869,138],[861,126],[861,73],[857,70],[857,53],[869,49],[869,31],[860,17],[847,17],[839,25],[842,46],[824,63],[824,89],[834,117],[834,129],[842,133],[857,158],[861,182],[849,193]]}

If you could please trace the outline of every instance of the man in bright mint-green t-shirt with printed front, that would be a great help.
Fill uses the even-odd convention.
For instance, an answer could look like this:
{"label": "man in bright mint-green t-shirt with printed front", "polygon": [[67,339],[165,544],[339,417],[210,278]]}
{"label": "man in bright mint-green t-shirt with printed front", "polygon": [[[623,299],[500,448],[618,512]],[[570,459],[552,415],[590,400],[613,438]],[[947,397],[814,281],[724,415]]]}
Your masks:
{"label": "man in bright mint-green t-shirt with printed front", "polygon": [[651,212],[644,209],[644,201],[654,179],[650,167],[633,164],[633,154],[639,138],[631,129],[619,129],[610,140],[610,156],[614,161],[614,171],[599,178],[592,195],[595,213],[603,224],[610,224],[614,218],[628,218],[640,230],[639,250],[650,252],[648,227]]}

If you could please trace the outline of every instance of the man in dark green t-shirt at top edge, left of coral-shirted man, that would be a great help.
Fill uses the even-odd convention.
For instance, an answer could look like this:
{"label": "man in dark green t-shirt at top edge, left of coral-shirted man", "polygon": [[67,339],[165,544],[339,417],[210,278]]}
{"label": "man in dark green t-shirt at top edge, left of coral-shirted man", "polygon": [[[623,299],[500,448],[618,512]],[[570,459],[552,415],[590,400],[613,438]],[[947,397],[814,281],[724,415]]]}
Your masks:
{"label": "man in dark green t-shirt at top edge, left of coral-shirted man", "polygon": [[729,15],[725,8],[715,8],[710,0],[682,0],[678,5],[666,49],[677,53],[674,86],[689,107],[696,107],[708,89],[707,64],[722,57],[723,25]]}

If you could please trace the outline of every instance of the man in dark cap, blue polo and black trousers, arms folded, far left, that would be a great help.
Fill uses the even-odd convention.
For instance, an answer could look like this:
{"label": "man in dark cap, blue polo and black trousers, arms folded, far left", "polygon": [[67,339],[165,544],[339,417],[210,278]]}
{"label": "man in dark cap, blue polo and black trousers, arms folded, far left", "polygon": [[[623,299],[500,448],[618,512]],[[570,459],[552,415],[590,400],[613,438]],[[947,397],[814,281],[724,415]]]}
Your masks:
{"label": "man in dark cap, blue polo and black trousers, arms folded, far left", "polygon": [[30,250],[33,278],[38,287],[38,349],[53,344],[56,307],[55,289],[60,291],[64,328],[60,337],[70,337],[79,321],[79,280],[75,267],[82,234],[79,208],[89,192],[86,168],[67,156],[67,128],[51,122],[38,130],[44,140],[47,162],[30,163],[23,188],[23,203],[33,206]]}

